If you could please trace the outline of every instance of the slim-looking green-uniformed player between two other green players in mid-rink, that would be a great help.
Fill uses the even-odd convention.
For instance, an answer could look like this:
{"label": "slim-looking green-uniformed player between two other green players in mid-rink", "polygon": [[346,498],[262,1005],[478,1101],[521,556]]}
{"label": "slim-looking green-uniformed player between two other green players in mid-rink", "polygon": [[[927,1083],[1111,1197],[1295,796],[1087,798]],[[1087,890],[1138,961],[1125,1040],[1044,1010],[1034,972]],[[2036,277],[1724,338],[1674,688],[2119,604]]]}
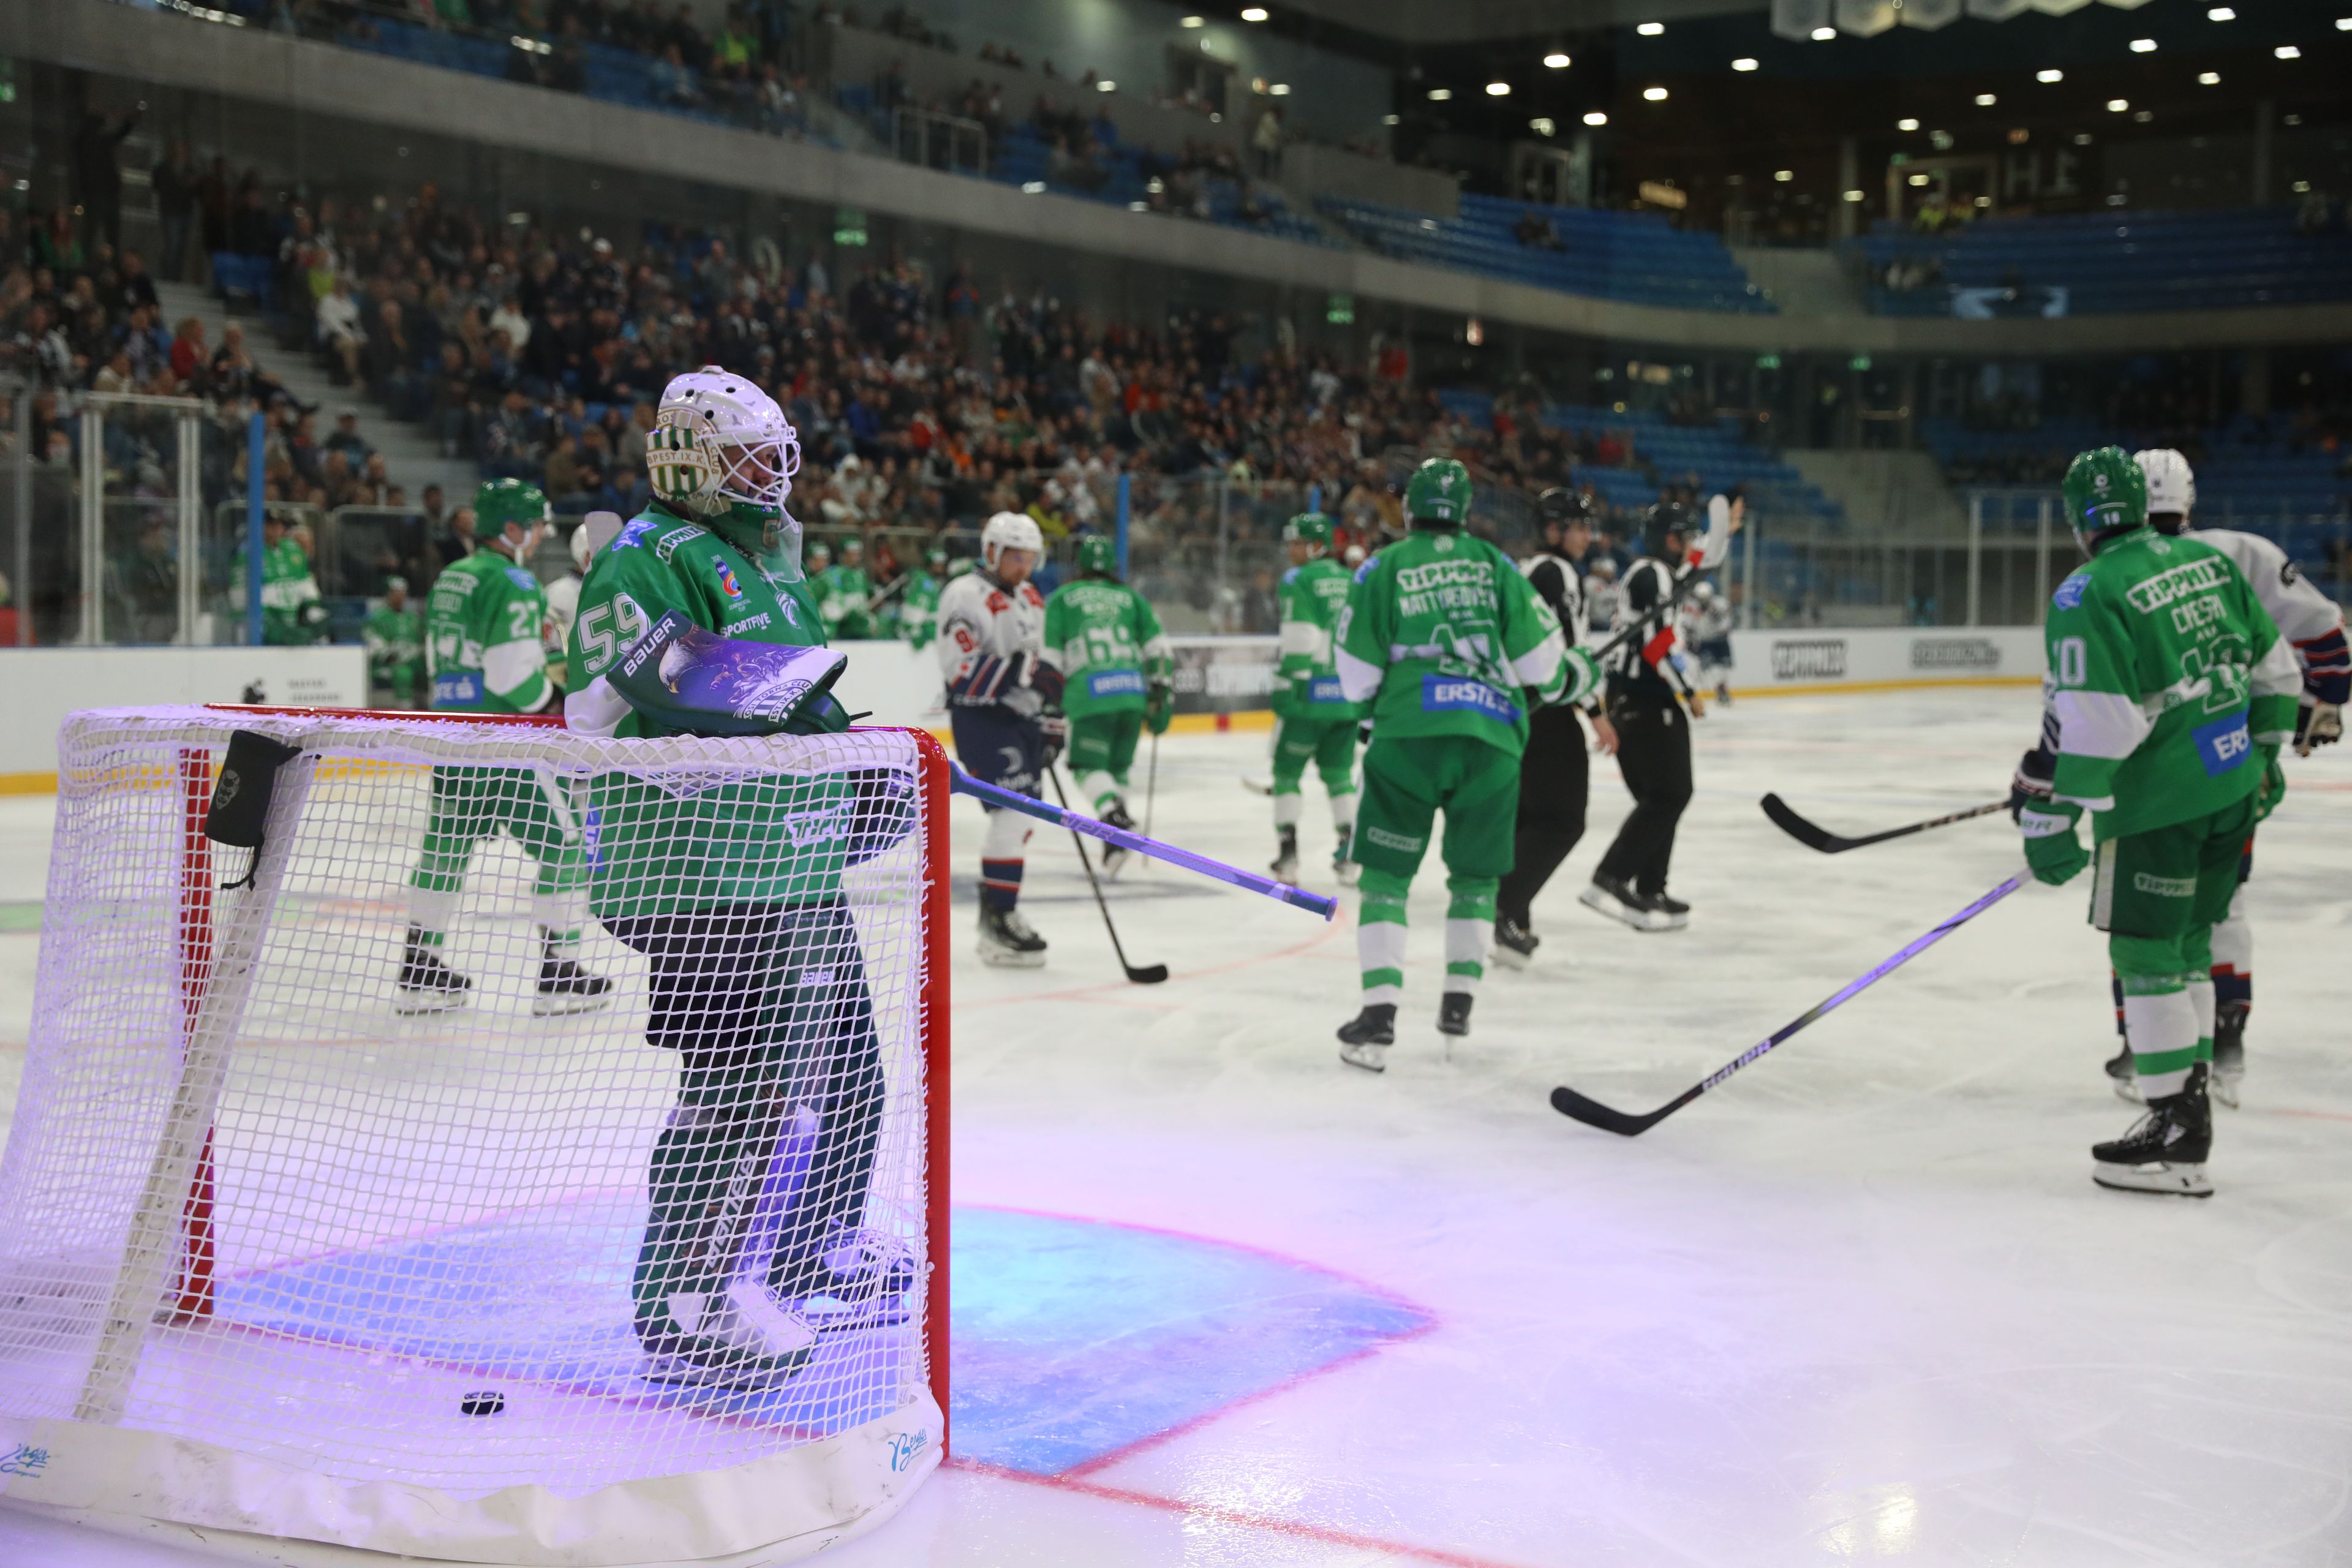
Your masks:
{"label": "slim-looking green-uniformed player between two other green players in mid-rink", "polygon": [[1348,858],[1355,832],[1355,703],[1338,684],[1331,628],[1348,609],[1352,588],[1348,569],[1331,559],[1331,520],[1301,512],[1282,524],[1291,569],[1282,574],[1282,663],[1275,668],[1275,865],[1282,882],[1298,882],[1298,818],[1305,792],[1298,788],[1308,764],[1331,799],[1331,830],[1338,837],[1331,870],[1341,884],[1355,882],[1357,865]]}

